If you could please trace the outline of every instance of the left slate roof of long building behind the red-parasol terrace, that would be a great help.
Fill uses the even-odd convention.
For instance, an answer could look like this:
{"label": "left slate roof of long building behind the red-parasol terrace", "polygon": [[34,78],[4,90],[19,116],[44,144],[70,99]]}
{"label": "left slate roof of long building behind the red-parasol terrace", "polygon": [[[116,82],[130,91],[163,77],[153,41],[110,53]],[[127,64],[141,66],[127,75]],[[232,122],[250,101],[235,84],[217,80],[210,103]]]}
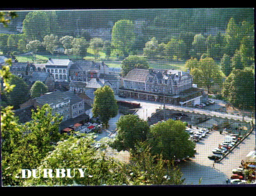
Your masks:
{"label": "left slate roof of long building behind the red-parasol terrace", "polygon": [[64,94],[63,92],[61,92],[60,90],[57,90],[57,91],[52,92],[50,94],[46,94],[46,95],[43,95],[43,96],[40,96],[40,97],[37,97],[37,98],[34,98],[34,99],[36,99],[36,102],[38,102],[41,105],[44,105],[44,104],[56,105],[56,104],[59,104],[61,102],[69,100],[70,97],[67,96],[66,94]]}

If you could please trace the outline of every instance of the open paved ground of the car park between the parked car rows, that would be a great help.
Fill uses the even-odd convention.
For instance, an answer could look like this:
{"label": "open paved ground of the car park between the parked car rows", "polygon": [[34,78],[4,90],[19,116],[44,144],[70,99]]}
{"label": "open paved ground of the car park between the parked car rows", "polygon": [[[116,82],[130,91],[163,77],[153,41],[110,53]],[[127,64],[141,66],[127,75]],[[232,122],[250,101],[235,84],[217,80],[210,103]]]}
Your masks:
{"label": "open paved ground of the car park between the parked car rows", "polygon": [[[219,131],[210,131],[208,136],[200,139],[196,143],[196,155],[188,161],[179,164],[186,178],[186,184],[198,184],[198,180],[202,177],[201,184],[226,184],[226,178],[232,175],[232,169],[240,166],[242,159],[255,148],[255,131],[233,149],[222,161],[214,163],[208,159],[208,155],[212,155],[212,150],[221,144],[227,135],[219,133]],[[213,163],[214,167],[213,168]]]}

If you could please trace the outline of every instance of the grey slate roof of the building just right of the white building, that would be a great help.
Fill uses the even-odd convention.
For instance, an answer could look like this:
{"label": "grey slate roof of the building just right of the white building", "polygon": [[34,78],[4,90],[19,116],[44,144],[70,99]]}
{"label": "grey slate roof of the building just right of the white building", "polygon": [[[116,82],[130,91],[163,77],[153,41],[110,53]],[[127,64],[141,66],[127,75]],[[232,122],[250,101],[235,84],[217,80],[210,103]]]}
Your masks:
{"label": "grey slate roof of the building just right of the white building", "polygon": [[100,71],[99,62],[93,61],[76,61],[74,64],[70,66],[70,70],[79,70],[79,71]]}

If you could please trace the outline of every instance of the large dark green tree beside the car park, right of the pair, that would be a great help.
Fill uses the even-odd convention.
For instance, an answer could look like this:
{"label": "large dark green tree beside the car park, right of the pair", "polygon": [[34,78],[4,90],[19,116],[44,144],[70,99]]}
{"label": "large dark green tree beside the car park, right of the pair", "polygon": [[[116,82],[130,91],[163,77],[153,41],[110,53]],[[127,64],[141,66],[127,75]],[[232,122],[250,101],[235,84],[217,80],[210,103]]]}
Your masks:
{"label": "large dark green tree beside the car park, right of the pair", "polygon": [[181,121],[168,120],[150,127],[148,144],[152,155],[160,155],[172,161],[175,158],[193,157],[195,144],[188,140],[185,125]]}

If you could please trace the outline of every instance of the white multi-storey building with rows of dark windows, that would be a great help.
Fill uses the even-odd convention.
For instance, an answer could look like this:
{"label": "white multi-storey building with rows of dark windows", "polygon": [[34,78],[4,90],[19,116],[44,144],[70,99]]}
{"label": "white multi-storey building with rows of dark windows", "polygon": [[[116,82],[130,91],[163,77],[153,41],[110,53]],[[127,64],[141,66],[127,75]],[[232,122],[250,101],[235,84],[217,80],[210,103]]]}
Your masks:
{"label": "white multi-storey building with rows of dark windows", "polygon": [[45,64],[45,68],[48,73],[54,76],[55,82],[68,82],[69,81],[69,69],[73,64],[71,59],[51,59]]}

